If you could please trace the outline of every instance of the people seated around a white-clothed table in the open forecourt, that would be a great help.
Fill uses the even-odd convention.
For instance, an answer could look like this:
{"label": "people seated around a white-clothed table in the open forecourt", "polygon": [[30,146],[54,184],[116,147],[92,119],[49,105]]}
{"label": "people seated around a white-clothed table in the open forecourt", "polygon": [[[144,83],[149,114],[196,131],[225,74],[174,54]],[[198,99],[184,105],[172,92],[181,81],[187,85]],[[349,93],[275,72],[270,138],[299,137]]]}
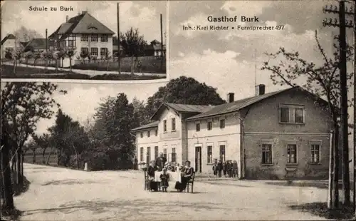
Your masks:
{"label": "people seated around a white-clothed table in the open forecourt", "polygon": [[[160,182],[155,180],[155,172],[159,171],[161,175],[159,175]],[[179,166],[179,163],[168,163],[167,159],[164,158],[162,153],[159,153],[159,157],[156,160],[152,160],[150,162],[150,166],[147,169],[147,175],[149,180],[149,190],[150,191],[158,191],[158,185],[162,187],[164,192],[167,192],[167,187],[169,186],[169,174],[168,171],[171,172],[180,172],[181,182],[176,182],[174,188],[179,192],[182,192],[187,187],[187,183],[192,178],[194,173],[194,169],[190,166],[190,161],[187,160],[184,167]]]}

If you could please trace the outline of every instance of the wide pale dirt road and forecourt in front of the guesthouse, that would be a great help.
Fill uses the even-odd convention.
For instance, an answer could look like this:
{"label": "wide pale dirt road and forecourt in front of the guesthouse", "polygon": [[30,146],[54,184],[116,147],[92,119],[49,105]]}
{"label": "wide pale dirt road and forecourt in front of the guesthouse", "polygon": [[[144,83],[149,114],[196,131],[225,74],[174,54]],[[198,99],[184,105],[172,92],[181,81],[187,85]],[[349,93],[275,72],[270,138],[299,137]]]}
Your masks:
{"label": "wide pale dirt road and forecourt in front of the guesthouse", "polygon": [[235,181],[195,183],[194,194],[148,192],[139,171],[85,172],[25,164],[21,220],[322,220],[288,205],[324,202],[326,190]]}

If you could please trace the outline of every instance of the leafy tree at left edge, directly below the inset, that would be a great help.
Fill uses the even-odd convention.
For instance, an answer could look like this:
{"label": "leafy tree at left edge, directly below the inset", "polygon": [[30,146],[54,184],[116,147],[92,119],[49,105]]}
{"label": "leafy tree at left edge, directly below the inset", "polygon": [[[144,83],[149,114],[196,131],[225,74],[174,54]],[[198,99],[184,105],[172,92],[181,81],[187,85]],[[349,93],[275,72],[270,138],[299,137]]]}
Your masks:
{"label": "leafy tree at left edge, directly below the inset", "polygon": [[[41,118],[51,118],[56,101],[51,95],[57,86],[52,83],[11,82],[1,89],[1,165],[9,167],[9,152],[17,155],[17,181],[22,182],[21,161],[22,148],[28,136],[36,130],[36,124]],[[58,104],[57,104],[58,106]],[[4,171],[4,170],[3,170]],[[10,185],[9,185],[10,183]],[[4,172],[3,185],[7,205],[11,205],[11,173]],[[11,199],[9,198],[11,196]]]}

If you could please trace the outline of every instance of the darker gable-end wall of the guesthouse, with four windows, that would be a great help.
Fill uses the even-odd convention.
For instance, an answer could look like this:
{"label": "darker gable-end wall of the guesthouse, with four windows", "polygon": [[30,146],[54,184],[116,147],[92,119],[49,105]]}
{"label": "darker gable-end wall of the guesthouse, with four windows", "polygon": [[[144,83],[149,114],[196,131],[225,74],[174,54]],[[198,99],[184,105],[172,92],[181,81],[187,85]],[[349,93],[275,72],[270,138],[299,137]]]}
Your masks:
{"label": "darker gable-end wall of the guesthouse, with four windows", "polygon": [[[279,123],[279,104],[303,104],[304,122]],[[245,111],[246,178],[327,178],[331,119],[303,93],[283,93]],[[311,144],[320,143],[320,163],[312,164]],[[272,163],[262,164],[262,144],[271,143]],[[297,163],[287,164],[287,145],[297,145]]]}

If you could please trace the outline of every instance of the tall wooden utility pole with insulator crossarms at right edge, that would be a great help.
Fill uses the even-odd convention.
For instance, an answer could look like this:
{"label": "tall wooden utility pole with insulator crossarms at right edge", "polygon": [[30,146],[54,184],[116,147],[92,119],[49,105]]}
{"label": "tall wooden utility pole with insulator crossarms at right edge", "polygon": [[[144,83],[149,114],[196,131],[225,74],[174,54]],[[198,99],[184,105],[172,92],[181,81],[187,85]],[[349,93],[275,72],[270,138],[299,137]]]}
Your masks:
{"label": "tall wooden utility pole with insulator crossarms at right edge", "polygon": [[[342,147],[342,204],[350,205],[350,172],[349,172],[349,150],[348,150],[348,125],[347,125],[347,57],[346,57],[346,28],[353,28],[352,21],[347,22],[345,15],[352,15],[353,12],[345,10],[345,1],[339,1],[339,10],[337,10],[337,6],[325,7],[323,9],[325,13],[333,13],[338,14],[340,24],[337,24],[337,19],[333,22],[332,19],[330,21],[323,21],[324,26],[334,26],[339,27],[339,47],[340,47],[340,61],[339,61],[339,70],[340,70],[340,106],[341,106],[341,126],[340,126],[340,135],[341,135],[341,147]],[[338,155],[338,147],[337,143],[335,143],[334,147],[334,171],[333,171],[333,191],[334,194],[337,194],[337,186],[338,178],[337,176],[337,155]],[[336,206],[338,202],[333,202],[333,206]]]}

